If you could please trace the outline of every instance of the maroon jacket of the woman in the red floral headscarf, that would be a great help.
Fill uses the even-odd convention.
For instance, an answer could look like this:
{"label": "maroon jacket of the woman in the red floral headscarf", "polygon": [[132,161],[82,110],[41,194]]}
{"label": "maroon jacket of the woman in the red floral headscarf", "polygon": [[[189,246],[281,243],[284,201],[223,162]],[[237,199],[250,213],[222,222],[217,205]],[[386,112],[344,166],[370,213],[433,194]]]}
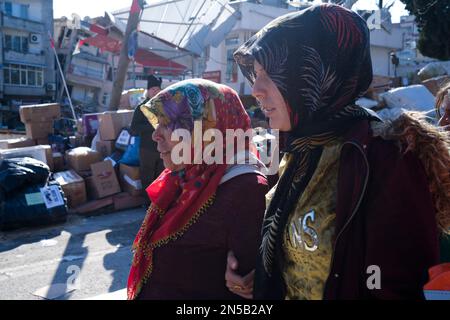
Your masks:
{"label": "maroon jacket of the woman in the red floral headscarf", "polygon": [[138,299],[241,299],[225,285],[227,254],[238,258],[239,274],[255,268],[267,191],[267,179],[252,173],[221,184],[213,205],[182,237],[155,249]]}

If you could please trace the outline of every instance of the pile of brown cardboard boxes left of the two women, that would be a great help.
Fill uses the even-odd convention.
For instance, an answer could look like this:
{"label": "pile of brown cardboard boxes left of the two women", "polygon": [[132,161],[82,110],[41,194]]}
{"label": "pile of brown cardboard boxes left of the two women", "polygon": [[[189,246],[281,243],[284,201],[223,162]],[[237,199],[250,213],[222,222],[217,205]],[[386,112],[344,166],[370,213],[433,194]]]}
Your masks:
{"label": "pile of brown cardboard boxes left of the two women", "polygon": [[[77,123],[76,136],[69,137],[73,149],[62,151],[47,140],[53,134],[53,121],[61,116],[60,106],[23,106],[20,117],[27,136],[0,141],[0,161],[32,157],[47,163],[72,213],[92,215],[142,206],[147,198],[139,167],[119,164],[131,141],[124,129],[129,128],[133,114],[121,110],[84,115]],[[82,146],[73,147],[78,145]]]}

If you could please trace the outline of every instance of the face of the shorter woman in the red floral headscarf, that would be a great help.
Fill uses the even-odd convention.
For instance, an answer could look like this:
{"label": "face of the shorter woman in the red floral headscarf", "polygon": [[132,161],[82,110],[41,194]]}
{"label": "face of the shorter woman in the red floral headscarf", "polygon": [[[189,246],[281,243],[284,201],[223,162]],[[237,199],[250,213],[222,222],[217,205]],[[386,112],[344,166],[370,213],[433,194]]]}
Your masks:
{"label": "face of the shorter woman in the red floral headscarf", "polygon": [[162,125],[161,122],[152,134],[152,139],[158,144],[158,152],[164,162],[164,167],[171,171],[180,171],[185,168],[184,164],[175,164],[172,161],[172,150],[179,141],[172,141],[172,129]]}

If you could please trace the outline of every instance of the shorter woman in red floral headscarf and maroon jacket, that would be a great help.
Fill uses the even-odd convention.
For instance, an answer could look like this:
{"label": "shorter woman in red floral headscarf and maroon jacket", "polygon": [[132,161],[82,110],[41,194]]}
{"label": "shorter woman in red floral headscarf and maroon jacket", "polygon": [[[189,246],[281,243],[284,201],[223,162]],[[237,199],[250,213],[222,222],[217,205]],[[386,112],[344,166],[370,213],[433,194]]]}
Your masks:
{"label": "shorter woman in red floral headscarf and maroon jacket", "polygon": [[[251,129],[239,96],[229,87],[194,79],[166,88],[141,110],[155,128],[153,140],[166,169],[147,188],[151,205],[133,245],[128,299],[240,299],[227,289],[223,274],[229,250],[239,258],[239,274],[255,268],[268,191],[263,165],[228,165],[225,158],[176,164],[179,153],[172,151],[179,142],[171,139],[176,129],[192,137],[194,123],[201,122],[202,136],[213,128],[222,134],[218,148],[225,156],[226,130]],[[197,149],[191,142],[187,147]],[[250,142],[235,156],[259,163]]]}

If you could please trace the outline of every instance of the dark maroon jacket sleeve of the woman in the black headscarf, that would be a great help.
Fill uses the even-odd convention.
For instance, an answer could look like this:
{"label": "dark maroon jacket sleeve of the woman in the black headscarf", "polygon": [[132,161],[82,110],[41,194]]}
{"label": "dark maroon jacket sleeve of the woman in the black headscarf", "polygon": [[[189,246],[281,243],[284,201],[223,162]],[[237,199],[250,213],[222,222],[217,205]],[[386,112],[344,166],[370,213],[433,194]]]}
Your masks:
{"label": "dark maroon jacket sleeve of the woman in the black headscarf", "polygon": [[380,268],[381,289],[367,289],[368,296],[423,299],[427,271],[439,261],[436,213],[426,172],[415,154],[401,154],[386,142],[376,143],[369,158],[371,178],[362,208],[365,265]]}

